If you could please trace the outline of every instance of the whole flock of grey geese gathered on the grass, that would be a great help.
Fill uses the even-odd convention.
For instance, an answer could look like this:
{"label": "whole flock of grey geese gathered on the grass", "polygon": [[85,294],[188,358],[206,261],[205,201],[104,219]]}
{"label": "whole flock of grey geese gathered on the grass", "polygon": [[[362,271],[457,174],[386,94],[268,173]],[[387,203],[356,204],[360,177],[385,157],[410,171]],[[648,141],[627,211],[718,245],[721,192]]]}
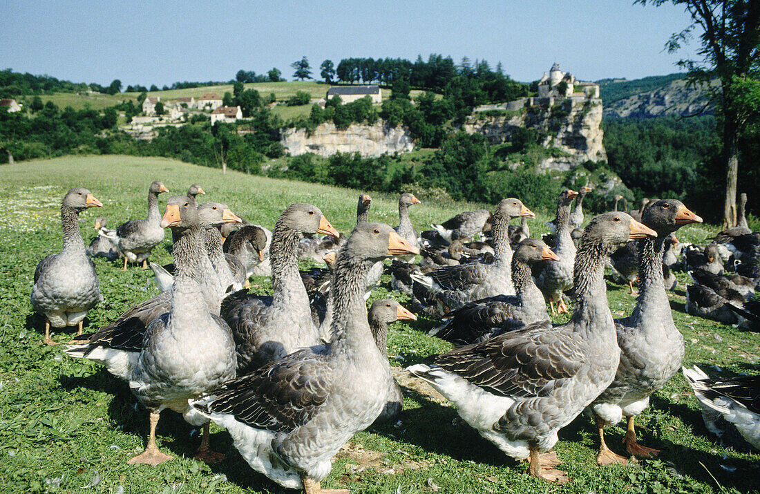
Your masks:
{"label": "whole flock of grey geese gathered on the grass", "polygon": [[[438,318],[431,334],[451,341],[454,350],[407,371],[454,403],[483,438],[527,459],[530,475],[564,483],[567,474],[557,468],[561,460],[552,448],[559,429],[584,410],[597,424],[597,463],[629,461],[604,440],[604,427],[624,417],[628,454],[659,453],[638,443],[635,417],[681,369],[684,342],[666,291],[670,271],[687,269],[695,280],[688,289],[690,313],[748,325],[760,319],[748,300],[760,279],[760,234],[746,221],[707,248],[683,247],[676,230],[701,217],[665,199],[648,201],[638,220],[632,217],[637,212],[612,211],[581,230],[581,201],[590,191],[559,195],[554,233],[544,239],[530,238],[527,220],[535,215],[517,198],[418,234],[409,210],[420,201],[408,193],[399,200],[395,228],[369,222],[372,199],[360,195],[356,226],[344,236],[312,204],[291,204],[268,230],[226,204],[198,203],[204,194],[198,185],[170,197],[162,214],[158,196],[169,191],[153,182],[146,219],[108,230],[99,218],[99,236],[85,248],[78,214],[103,204],[86,188],[72,188],[61,207],[63,250],[40,261],[31,302],[45,316],[48,344],[55,344],[51,325],[78,325],[65,353],[103,363],[147,409],[147,447],[130,464],[172,458],[155,439],[160,412],[169,408],[203,427],[196,458],[222,456],[209,445],[214,421],[254,470],[281,486],[326,492],[319,483],[340,447],[401,413],[386,334],[389,323],[415,320],[416,312]],[[519,225],[510,225],[517,219]],[[83,334],[87,311],[102,299],[88,255],[123,256],[125,270],[129,262],[146,268],[166,228],[174,262],[150,263],[162,291]],[[303,258],[324,259],[328,268],[299,271]],[[413,312],[393,299],[366,309],[388,258],[391,286],[412,296]],[[627,318],[614,319],[607,305],[609,262],[626,280],[631,271],[638,279]],[[725,263],[737,273],[725,275]],[[274,293],[249,293],[252,274],[271,275]],[[553,314],[572,310],[569,321],[553,324],[546,302]],[[705,420],[712,420],[708,426],[722,419],[760,448],[757,377],[720,382],[696,367],[683,373]]]}

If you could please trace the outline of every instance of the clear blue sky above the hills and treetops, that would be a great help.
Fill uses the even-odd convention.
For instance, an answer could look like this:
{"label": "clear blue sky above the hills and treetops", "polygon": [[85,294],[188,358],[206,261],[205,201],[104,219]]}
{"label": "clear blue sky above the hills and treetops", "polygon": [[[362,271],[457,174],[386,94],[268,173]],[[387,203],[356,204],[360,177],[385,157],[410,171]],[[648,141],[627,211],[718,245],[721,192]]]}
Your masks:
{"label": "clear blue sky above the hills and treetops", "polygon": [[[0,68],[75,82],[226,81],[243,68],[290,79],[302,55],[497,62],[533,81],[553,62],[582,80],[676,71],[663,50],[689,25],[682,8],[631,0],[501,2],[2,2]],[[692,43],[692,46],[695,43]]]}

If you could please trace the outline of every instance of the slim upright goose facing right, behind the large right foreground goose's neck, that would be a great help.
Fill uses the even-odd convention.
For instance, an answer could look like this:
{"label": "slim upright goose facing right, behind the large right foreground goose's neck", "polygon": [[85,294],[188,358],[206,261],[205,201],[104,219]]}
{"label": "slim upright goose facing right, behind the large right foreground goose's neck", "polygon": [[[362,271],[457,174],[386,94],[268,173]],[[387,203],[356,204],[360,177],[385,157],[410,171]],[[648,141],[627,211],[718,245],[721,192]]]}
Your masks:
{"label": "slim upright goose facing right, behind the large right foreground goose's neck", "polygon": [[568,188],[562,191],[557,199],[557,232],[553,251],[559,257],[559,262],[537,265],[536,285],[549,301],[552,314],[556,314],[555,303],[558,303],[559,313],[568,312],[562,293],[569,290],[573,283],[573,260],[576,249],[570,237],[569,221],[570,204],[577,195],[578,192]]}

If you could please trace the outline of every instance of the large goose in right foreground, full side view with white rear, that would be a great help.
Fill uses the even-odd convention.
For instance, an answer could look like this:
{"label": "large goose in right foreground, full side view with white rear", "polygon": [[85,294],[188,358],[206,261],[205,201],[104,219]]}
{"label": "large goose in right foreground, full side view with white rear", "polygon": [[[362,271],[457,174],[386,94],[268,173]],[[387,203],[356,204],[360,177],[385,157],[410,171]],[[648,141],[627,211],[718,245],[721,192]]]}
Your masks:
{"label": "large goose in right foreground, full side view with white rear", "polygon": [[452,401],[457,413],[512,458],[529,458],[530,475],[564,483],[542,455],[615,377],[620,349],[607,306],[604,258],[631,238],[657,236],[628,214],[591,220],[575,255],[575,313],[451,350],[435,366],[407,370]]}

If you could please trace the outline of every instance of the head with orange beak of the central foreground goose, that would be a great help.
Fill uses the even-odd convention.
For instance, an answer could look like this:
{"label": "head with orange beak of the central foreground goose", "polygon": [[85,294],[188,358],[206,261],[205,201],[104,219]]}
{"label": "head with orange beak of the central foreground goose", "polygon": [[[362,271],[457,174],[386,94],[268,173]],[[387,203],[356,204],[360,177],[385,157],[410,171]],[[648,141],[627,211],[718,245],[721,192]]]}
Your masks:
{"label": "head with orange beak of the central foreground goose", "polygon": [[[411,245],[385,223],[359,223],[344,246],[348,258],[362,261],[382,261],[393,255],[419,254]],[[343,258],[344,254],[341,253]]]}

